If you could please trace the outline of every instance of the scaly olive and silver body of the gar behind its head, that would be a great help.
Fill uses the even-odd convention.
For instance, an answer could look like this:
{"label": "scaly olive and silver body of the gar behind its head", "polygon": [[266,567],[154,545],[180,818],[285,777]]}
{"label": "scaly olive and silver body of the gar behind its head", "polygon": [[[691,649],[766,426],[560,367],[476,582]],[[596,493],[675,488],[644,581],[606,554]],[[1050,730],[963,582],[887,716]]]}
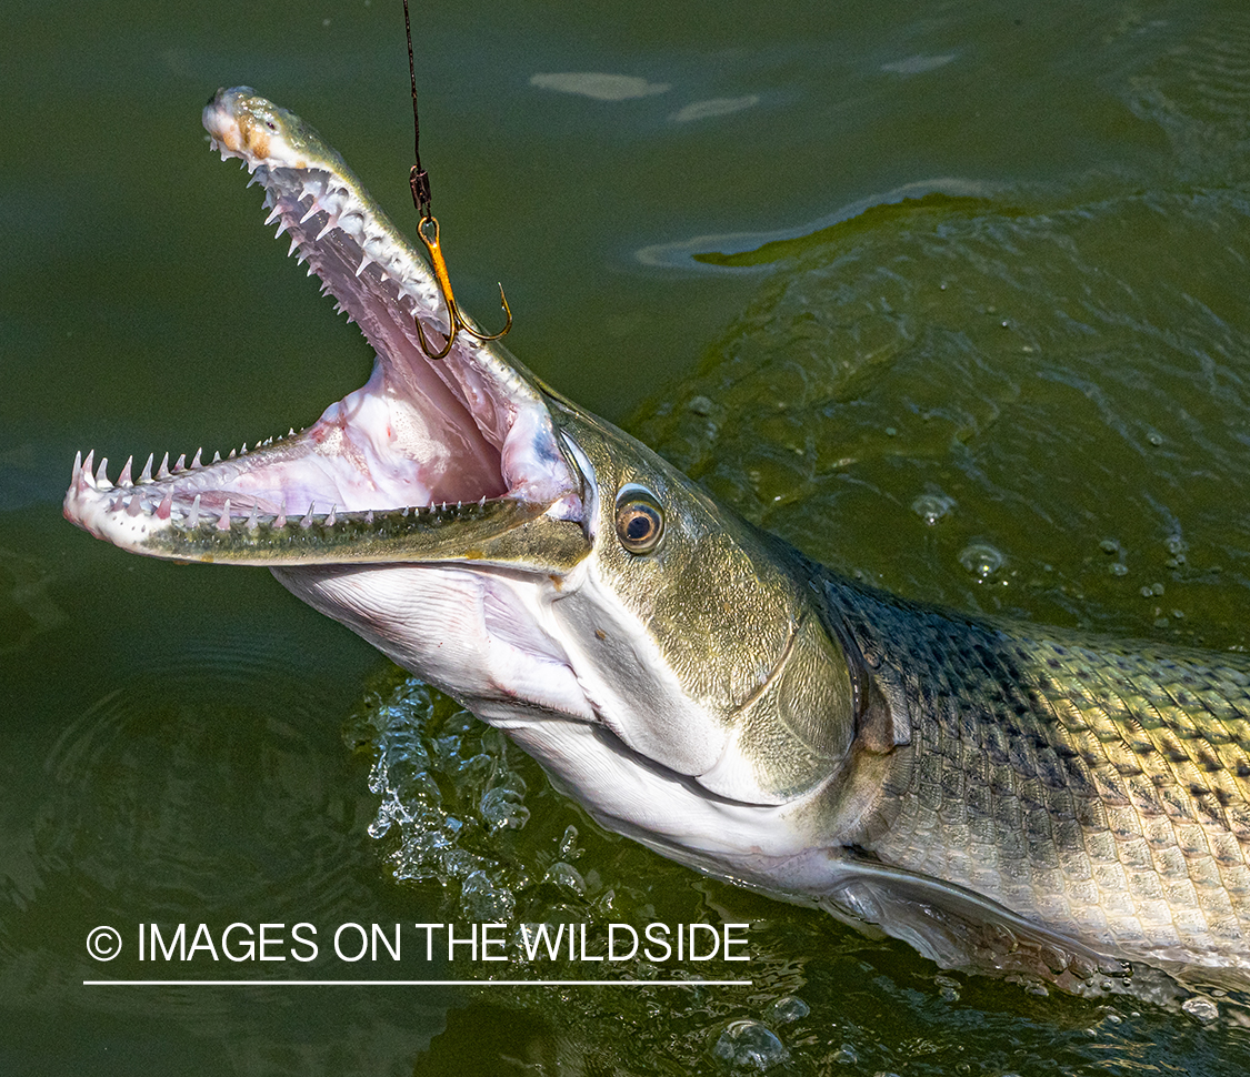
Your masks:
{"label": "scaly olive and silver body of the gar behind its head", "polygon": [[1250,970],[1246,656],[825,591],[910,727],[861,848],[1102,952]]}

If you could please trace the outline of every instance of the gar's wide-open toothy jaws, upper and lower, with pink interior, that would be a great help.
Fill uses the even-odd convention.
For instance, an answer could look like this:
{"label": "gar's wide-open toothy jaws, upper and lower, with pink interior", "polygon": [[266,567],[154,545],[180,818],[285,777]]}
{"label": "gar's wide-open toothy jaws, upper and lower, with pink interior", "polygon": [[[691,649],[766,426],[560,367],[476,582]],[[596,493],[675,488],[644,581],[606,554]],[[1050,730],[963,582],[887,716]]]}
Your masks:
{"label": "gar's wide-open toothy jaws, upper and lower, with pink interior", "polygon": [[[581,517],[580,476],[541,391],[502,349],[460,334],[449,355],[436,282],[342,159],[298,116],[248,87],[219,90],[204,125],[221,159],[265,189],[269,222],[378,354],[369,381],[299,434],[226,459],[74,464],[65,516],[135,552],[235,563],[392,560],[446,524],[506,529]],[[250,184],[249,184],[250,186]],[[374,541],[361,542],[361,536]]]}

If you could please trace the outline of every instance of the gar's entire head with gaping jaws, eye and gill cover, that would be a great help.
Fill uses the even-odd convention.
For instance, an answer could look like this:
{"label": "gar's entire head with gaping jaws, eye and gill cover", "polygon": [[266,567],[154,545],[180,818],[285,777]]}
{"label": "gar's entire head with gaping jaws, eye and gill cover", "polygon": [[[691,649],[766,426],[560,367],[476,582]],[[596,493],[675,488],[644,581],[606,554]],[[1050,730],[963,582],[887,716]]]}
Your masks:
{"label": "gar's entire head with gaping jaws, eye and gill cover", "polygon": [[238,87],[204,121],[360,325],[372,375],[224,460],[138,479],[128,461],[114,484],[89,454],[66,517],[138,553],[270,567],[616,830],[758,846],[748,821],[834,780],[862,702],[798,555],[500,344],[460,332],[432,359],[435,276],[299,117]]}

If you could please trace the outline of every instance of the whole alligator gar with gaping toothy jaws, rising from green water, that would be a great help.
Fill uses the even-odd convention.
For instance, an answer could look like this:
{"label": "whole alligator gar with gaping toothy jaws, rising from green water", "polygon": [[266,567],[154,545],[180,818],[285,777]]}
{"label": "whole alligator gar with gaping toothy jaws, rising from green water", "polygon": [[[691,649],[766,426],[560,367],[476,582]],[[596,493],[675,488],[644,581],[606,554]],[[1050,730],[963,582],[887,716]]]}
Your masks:
{"label": "whole alligator gar with gaping toothy jaws, rising from green water", "polygon": [[748,524],[502,346],[341,157],[246,87],[204,122],[376,351],[288,437],[65,515],[281,583],[532,755],[608,828],[904,938],[1080,988],[1250,982],[1250,660],[962,616]]}

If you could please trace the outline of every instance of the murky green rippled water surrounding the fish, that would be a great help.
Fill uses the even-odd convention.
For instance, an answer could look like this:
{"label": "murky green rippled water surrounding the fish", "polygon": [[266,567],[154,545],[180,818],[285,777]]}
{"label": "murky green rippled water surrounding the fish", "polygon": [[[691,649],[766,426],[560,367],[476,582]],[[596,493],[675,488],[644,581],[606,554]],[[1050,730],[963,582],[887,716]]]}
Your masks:
{"label": "murky green rippled water surrounding the fish", "polygon": [[[944,976],[604,836],[264,572],[142,561],[66,525],[78,449],[114,469],[226,450],[362,381],[368,347],[268,237],[199,110],[256,86],[411,220],[402,21],[381,0],[10,6],[0,1070],[726,1073],[716,1046],[741,1021],[784,1046],[774,1073],[1250,1068],[1236,1028]],[[509,342],[551,384],[910,597],[1246,645],[1242,4],[415,15],[458,296],[494,325],[501,280]],[[639,96],[531,82],[560,72],[628,75]],[[522,827],[491,830],[496,788]],[[388,790],[430,812],[402,837],[378,826]],[[446,848],[421,860],[421,835]],[[488,913],[746,921],[754,985],[82,985],[480,981],[496,968],[325,952],[349,921]],[[138,961],[139,923],[235,921],[315,923],[322,957]],[[122,932],[114,962],[88,957],[100,925]]]}

